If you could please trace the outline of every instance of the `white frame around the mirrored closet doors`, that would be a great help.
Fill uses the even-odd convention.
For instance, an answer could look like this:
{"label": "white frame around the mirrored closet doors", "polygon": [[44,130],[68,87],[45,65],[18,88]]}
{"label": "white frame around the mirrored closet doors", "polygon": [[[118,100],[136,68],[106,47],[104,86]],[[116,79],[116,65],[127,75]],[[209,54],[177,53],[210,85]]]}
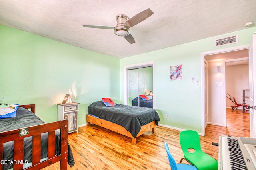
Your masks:
{"label": "white frame around the mirrored closet doors", "polygon": [[144,68],[144,67],[153,67],[153,94],[154,94],[154,100],[153,100],[153,108],[155,108],[155,62],[149,61],[146,63],[138,63],[138,64],[132,64],[124,66],[124,104],[128,105],[128,70],[136,69],[136,68]]}

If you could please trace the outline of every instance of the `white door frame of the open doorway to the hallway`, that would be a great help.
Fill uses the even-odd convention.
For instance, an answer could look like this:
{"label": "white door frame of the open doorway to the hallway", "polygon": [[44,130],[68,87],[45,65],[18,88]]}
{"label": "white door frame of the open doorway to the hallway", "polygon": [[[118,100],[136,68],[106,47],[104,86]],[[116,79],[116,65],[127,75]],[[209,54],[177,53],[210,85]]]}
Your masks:
{"label": "white door frame of the open doorway to the hallway", "polygon": [[[226,49],[218,49],[218,50],[214,50],[214,51],[208,51],[208,52],[203,52],[201,53],[201,80],[204,80],[204,56],[205,55],[213,55],[213,54],[218,54],[218,53],[226,53],[226,52],[231,52],[231,51],[239,51],[239,50],[243,50],[243,49],[249,49],[249,44],[248,45],[240,45],[237,47],[230,47],[230,48],[226,48]],[[225,80],[225,79],[224,79]],[[226,82],[226,80],[225,80]],[[223,92],[226,91],[226,86],[225,82],[223,83],[222,86],[222,90]],[[205,136],[205,91],[204,91],[204,83],[201,83],[201,135]],[[225,96],[224,96],[225,98]],[[225,101],[225,100],[224,100]],[[226,112],[226,105],[223,105],[223,109],[222,111]],[[222,114],[223,115],[223,114]],[[224,119],[226,119],[226,114]]]}

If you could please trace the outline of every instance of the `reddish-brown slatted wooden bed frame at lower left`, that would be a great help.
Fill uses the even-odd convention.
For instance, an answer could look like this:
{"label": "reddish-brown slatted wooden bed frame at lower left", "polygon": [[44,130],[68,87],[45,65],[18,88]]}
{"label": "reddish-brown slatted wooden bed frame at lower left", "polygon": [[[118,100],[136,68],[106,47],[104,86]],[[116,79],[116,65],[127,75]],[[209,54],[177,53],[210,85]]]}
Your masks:
{"label": "reddish-brown slatted wooden bed frame at lower left", "polygon": [[[35,113],[35,104],[20,105],[26,109],[31,109]],[[67,170],[68,163],[68,121],[56,121],[52,123],[46,123],[42,125],[36,125],[28,127],[28,135],[19,136],[19,130],[0,132],[0,160],[3,159],[3,143],[8,141],[14,141],[14,170],[22,170],[23,164],[18,162],[24,162],[23,151],[25,137],[33,136],[33,148],[32,148],[32,166],[24,170],[40,170],[46,166],[54,164],[60,161],[60,170]],[[60,129],[61,135],[61,153],[55,155],[55,130]],[[40,162],[41,159],[41,133],[48,132],[48,159]],[[3,169],[3,164],[0,164],[0,170]]]}

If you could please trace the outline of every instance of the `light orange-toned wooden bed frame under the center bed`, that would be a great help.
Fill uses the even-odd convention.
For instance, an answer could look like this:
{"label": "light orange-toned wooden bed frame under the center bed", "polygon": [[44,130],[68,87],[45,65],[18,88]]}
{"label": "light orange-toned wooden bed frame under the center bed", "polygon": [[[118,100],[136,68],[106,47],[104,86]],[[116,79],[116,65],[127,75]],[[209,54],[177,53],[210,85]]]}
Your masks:
{"label": "light orange-toned wooden bed frame under the center bed", "polygon": [[86,115],[86,121],[87,121],[87,126],[90,126],[90,123],[93,123],[100,127],[104,127],[106,129],[109,129],[109,130],[119,133],[121,135],[132,138],[132,145],[136,145],[136,138],[139,137],[140,135],[142,135],[143,133],[145,133],[146,131],[149,131],[150,129],[152,129],[152,133],[156,133],[155,121],[152,121],[152,122],[142,126],[140,129],[140,132],[138,133],[136,138],[134,138],[132,136],[132,134],[129,131],[127,131],[124,127],[122,127],[116,123],[112,123],[112,122],[106,121],[104,119],[96,118],[96,117],[88,115],[88,114]]}

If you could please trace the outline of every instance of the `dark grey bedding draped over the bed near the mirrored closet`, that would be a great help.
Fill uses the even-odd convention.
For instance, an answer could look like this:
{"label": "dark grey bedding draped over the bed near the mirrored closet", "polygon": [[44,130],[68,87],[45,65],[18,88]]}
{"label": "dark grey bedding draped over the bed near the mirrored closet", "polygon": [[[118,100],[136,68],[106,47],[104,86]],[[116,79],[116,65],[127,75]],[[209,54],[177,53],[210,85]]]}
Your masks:
{"label": "dark grey bedding draped over the bed near the mirrored closet", "polygon": [[102,101],[90,104],[88,113],[124,127],[134,138],[137,137],[141,126],[152,121],[158,125],[158,121],[160,121],[155,109],[123,104],[106,106]]}

